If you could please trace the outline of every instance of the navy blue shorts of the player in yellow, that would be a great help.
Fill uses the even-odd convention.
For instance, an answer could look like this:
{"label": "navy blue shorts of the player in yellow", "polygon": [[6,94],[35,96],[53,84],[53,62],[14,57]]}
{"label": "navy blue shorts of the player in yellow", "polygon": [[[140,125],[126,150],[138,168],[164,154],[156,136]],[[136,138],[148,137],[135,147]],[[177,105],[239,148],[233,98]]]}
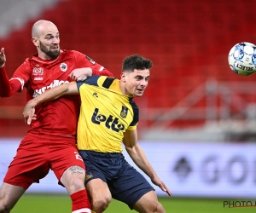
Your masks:
{"label": "navy blue shorts of the player in yellow", "polygon": [[113,199],[130,209],[145,193],[154,190],[148,181],[125,160],[122,153],[97,153],[79,150],[86,168],[85,185],[96,178],[108,184]]}

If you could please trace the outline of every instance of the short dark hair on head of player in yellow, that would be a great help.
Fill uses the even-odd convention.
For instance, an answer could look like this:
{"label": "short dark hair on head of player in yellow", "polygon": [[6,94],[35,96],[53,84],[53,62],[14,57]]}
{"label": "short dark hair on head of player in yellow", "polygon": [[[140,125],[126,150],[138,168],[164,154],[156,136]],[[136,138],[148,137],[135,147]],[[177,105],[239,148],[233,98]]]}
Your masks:
{"label": "short dark hair on head of player in yellow", "polygon": [[123,60],[122,72],[133,72],[137,70],[150,69],[152,67],[152,61],[143,58],[141,55],[127,56]]}

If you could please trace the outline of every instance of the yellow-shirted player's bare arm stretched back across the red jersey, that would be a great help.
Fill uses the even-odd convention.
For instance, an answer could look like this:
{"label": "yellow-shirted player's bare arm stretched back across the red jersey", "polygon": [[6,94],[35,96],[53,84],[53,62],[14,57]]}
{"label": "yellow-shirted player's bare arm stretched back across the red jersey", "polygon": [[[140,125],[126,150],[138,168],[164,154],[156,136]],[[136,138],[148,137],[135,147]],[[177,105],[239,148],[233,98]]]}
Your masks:
{"label": "yellow-shirted player's bare arm stretched back across the red jersey", "polygon": [[38,97],[28,101],[23,110],[23,116],[25,118],[26,124],[31,124],[32,120],[35,120],[37,115],[35,114],[35,107],[46,101],[55,100],[62,95],[77,95],[79,94],[79,89],[76,82],[61,84],[52,89],[46,90],[43,94],[38,95]]}

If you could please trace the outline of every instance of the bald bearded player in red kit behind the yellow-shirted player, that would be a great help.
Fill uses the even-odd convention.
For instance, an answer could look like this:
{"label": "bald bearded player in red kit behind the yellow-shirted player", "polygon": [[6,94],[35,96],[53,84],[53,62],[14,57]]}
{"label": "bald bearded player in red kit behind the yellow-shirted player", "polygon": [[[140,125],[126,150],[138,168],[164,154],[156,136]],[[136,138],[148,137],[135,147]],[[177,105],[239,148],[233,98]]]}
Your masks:
{"label": "bald bearded player in red kit behind the yellow-shirted player", "polygon": [[[26,88],[26,101],[29,101],[47,89],[73,80],[84,80],[91,75],[113,76],[87,55],[61,50],[60,32],[48,20],[38,20],[32,26],[32,43],[38,54],[26,58],[10,79],[5,71],[4,49],[0,50],[1,97],[9,97]],[[3,179],[0,213],[10,212],[26,189],[47,176],[49,170],[53,170],[59,184],[67,188],[72,212],[90,212],[84,187],[84,162],[76,147],[79,105],[79,95],[68,95],[37,107],[38,119],[20,141]],[[57,206],[55,210],[58,212]],[[29,206],[28,211],[31,211]]]}

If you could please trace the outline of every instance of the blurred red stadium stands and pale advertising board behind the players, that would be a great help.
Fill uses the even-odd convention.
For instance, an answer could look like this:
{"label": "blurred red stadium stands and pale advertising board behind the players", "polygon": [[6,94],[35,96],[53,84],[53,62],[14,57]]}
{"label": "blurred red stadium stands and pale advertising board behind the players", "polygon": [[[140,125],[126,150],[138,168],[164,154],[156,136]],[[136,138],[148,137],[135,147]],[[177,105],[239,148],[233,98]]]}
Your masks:
{"label": "blurred red stadium stands and pale advertising board behind the players", "polygon": [[[44,19],[58,27],[61,49],[90,56],[117,78],[125,56],[152,60],[148,89],[135,99],[139,140],[172,193],[255,198],[256,74],[239,76],[228,65],[236,43],[256,43],[254,5],[253,0],[2,0],[0,47],[11,78],[36,54],[31,29]],[[0,179],[26,135],[25,104],[26,91],[0,99]],[[53,186],[61,191],[52,177],[45,183],[49,189],[37,184],[31,192]]]}

